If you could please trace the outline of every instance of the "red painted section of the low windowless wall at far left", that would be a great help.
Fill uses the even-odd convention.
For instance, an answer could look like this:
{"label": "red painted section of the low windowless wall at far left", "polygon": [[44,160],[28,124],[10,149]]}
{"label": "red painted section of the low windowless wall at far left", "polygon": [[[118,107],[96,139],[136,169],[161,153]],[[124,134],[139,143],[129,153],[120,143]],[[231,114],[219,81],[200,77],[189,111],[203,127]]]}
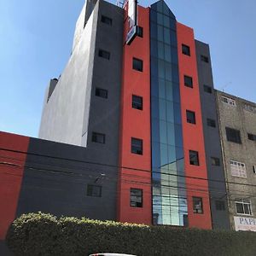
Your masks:
{"label": "red painted section of the low windowless wall at far left", "polygon": [[0,240],[5,238],[9,224],[15,219],[20,186],[26,162],[29,137],[0,132]]}

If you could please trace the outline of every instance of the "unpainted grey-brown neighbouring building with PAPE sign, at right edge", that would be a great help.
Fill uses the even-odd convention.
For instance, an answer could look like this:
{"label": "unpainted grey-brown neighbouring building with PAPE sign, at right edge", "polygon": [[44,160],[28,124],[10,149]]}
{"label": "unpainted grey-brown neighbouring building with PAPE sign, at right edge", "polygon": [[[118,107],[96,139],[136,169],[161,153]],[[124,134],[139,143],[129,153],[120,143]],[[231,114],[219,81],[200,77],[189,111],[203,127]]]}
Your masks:
{"label": "unpainted grey-brown neighbouring building with PAPE sign, at right edge", "polygon": [[256,104],[216,95],[231,228],[256,231]]}

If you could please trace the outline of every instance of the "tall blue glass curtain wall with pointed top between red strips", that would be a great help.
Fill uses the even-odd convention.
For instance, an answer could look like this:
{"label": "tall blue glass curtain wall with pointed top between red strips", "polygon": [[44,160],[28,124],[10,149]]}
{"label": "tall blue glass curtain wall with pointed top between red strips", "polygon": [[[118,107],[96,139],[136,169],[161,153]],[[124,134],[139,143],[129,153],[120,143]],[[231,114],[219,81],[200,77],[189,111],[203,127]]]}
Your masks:
{"label": "tall blue glass curtain wall with pointed top between red strips", "polygon": [[150,9],[154,224],[187,225],[176,18],[164,1]]}

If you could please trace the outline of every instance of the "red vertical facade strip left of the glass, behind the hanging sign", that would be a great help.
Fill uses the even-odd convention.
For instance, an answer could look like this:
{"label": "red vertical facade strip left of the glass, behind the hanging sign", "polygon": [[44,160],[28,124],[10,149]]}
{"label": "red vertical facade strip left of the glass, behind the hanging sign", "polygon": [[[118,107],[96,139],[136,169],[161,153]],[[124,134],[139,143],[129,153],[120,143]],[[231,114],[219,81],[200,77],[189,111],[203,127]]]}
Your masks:
{"label": "red vertical facade strip left of the glass, behind the hanging sign", "polygon": [[[150,143],[150,49],[149,9],[138,7],[138,25],[143,27],[143,38],[135,38],[131,45],[124,44],[123,80],[120,109],[119,143],[119,199],[118,220],[151,224],[151,143]],[[124,38],[128,32],[125,10]],[[125,39],[124,39],[125,42]],[[143,72],[132,68],[133,57],[143,60]],[[143,97],[143,110],[131,107],[132,95]],[[143,140],[143,155],[131,154],[131,137]],[[137,171],[143,169],[147,172]],[[130,207],[130,189],[143,189],[143,207]]]}

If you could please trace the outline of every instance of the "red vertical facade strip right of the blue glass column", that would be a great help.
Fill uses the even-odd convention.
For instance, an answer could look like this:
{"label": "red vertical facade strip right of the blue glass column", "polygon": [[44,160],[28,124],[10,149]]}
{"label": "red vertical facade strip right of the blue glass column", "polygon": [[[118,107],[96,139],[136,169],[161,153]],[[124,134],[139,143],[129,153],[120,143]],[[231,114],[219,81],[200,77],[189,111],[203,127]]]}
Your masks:
{"label": "red vertical facade strip right of the blue glass column", "polygon": [[[182,53],[182,44],[189,46],[190,56]],[[184,26],[180,23],[177,23],[177,51],[183,122],[185,175],[187,176],[186,187],[188,197],[189,227],[212,229],[207,180],[189,178],[201,177],[207,179],[207,163],[201,118],[201,101],[196,66],[194,32],[190,27]],[[193,88],[189,88],[184,85],[184,75],[193,78]],[[186,110],[195,112],[195,125],[187,122]],[[200,166],[192,166],[189,164],[189,150],[198,152]],[[202,198],[202,214],[193,212],[193,196]]]}

